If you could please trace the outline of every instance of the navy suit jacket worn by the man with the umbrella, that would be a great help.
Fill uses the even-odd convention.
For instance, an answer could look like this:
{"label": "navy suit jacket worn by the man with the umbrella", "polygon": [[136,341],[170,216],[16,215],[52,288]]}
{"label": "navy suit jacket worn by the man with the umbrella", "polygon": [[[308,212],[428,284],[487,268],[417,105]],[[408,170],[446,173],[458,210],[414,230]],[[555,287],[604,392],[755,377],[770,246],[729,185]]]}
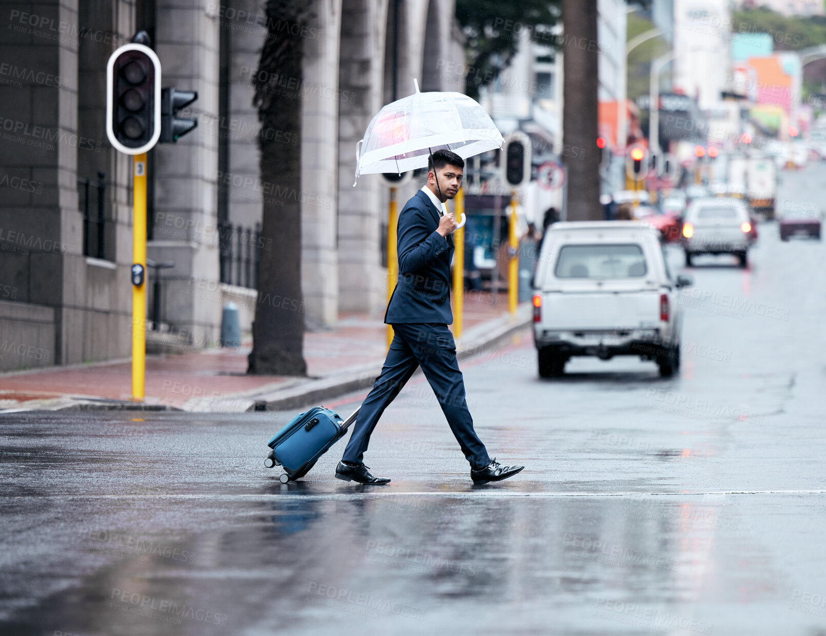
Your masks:
{"label": "navy suit jacket worn by the man with the umbrella", "polygon": [[424,192],[418,191],[399,214],[396,250],[399,280],[384,322],[453,323],[450,310],[450,259],[453,239],[438,232],[441,214]]}

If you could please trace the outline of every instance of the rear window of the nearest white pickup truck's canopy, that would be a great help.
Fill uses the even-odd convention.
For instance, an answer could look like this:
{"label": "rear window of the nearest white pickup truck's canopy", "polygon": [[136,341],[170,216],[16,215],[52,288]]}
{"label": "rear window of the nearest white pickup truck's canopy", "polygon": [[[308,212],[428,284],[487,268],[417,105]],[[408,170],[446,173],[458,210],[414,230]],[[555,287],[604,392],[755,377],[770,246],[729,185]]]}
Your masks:
{"label": "rear window of the nearest white pickup truck's canopy", "polygon": [[648,273],[638,245],[564,245],[559,250],[557,278],[638,278]]}

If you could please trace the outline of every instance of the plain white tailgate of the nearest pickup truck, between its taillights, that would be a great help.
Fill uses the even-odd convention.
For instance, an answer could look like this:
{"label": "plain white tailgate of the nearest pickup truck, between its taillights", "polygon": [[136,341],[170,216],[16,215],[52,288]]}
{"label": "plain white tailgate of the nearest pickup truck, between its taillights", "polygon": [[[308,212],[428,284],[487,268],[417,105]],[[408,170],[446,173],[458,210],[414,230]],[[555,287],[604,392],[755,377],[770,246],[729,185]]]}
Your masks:
{"label": "plain white tailgate of the nearest pickup truck, between its taillights", "polygon": [[611,331],[659,325],[660,294],[657,290],[545,292],[542,296],[541,329]]}

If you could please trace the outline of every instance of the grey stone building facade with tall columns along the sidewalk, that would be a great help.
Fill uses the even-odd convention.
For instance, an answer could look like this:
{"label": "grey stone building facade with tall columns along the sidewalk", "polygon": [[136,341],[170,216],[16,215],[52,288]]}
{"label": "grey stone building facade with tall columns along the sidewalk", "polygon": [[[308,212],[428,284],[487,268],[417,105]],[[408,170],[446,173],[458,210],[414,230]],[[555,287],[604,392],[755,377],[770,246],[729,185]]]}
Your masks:
{"label": "grey stone building facade with tall columns along the sidewalk", "polygon": [[[377,176],[353,187],[355,144],[413,78],[422,90],[461,90],[449,69],[462,68],[463,45],[453,0],[314,2],[293,87],[303,134],[284,143],[301,144],[306,322],[324,328],[339,312],[377,313],[386,298],[387,187]],[[197,129],[150,152],[147,253],[174,262],[161,318],[193,346],[217,341],[227,299],[249,324],[246,232],[269,196],[252,105],[263,3],[44,0],[0,12],[0,370],[130,355],[131,158],[107,141],[105,69],[141,29],[163,85],[198,93]],[[221,236],[235,250],[223,276]]]}

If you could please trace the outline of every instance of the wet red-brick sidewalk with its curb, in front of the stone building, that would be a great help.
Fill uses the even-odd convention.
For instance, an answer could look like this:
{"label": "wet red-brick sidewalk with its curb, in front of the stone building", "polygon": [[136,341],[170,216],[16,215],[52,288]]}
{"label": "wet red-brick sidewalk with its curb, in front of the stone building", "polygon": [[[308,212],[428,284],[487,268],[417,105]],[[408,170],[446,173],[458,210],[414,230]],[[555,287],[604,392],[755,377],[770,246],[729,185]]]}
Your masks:
{"label": "wet red-brick sidewalk with its curb, in front of the stone building", "polygon": [[[507,296],[497,302],[487,292],[465,296],[459,360],[529,324],[530,304],[515,316]],[[335,329],[307,332],[306,378],[246,375],[251,342],[238,348],[207,349],[146,357],[145,402],[131,402],[131,362],[50,367],[0,375],[3,410],[182,409],[195,412],[244,412],[296,408],[350,391],[365,389],[382,368],[387,353],[382,317],[350,314]]]}

